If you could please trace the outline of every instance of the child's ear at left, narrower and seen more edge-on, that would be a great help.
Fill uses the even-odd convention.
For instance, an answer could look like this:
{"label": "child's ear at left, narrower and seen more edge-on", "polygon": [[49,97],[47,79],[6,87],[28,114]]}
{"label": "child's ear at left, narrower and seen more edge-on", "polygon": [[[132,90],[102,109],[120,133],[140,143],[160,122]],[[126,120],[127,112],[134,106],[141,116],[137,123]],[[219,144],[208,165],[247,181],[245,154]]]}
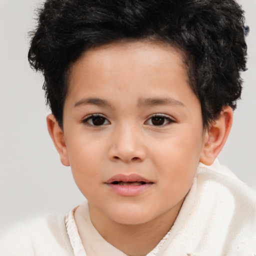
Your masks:
{"label": "child's ear at left, narrower and seen more edge-on", "polygon": [[59,153],[61,163],[65,166],[69,166],[70,164],[67,154],[66,143],[64,140],[63,130],[59,127],[58,122],[56,121],[55,116],[53,114],[49,114],[46,117],[46,121],[48,132],[54,143],[55,148]]}

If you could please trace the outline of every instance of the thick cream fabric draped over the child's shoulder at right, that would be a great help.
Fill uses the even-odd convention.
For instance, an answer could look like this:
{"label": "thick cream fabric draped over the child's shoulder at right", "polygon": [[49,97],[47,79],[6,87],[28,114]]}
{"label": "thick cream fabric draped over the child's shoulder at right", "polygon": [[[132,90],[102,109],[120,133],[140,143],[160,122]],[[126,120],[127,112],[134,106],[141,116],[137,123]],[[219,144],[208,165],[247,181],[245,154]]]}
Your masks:
{"label": "thick cream fabric draped over the child's shoulder at right", "polygon": [[200,164],[164,255],[256,255],[255,199],[230,170]]}

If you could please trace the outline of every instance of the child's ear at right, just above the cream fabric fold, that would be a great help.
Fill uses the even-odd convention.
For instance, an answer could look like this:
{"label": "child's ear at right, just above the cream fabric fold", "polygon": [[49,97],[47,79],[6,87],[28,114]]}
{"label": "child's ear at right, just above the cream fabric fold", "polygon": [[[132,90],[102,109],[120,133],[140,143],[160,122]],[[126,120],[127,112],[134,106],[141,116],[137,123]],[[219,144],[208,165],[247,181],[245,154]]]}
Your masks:
{"label": "child's ear at right, just above the cream fabric fold", "polygon": [[200,162],[211,165],[228,137],[233,121],[233,110],[230,106],[225,106],[219,116],[205,131]]}

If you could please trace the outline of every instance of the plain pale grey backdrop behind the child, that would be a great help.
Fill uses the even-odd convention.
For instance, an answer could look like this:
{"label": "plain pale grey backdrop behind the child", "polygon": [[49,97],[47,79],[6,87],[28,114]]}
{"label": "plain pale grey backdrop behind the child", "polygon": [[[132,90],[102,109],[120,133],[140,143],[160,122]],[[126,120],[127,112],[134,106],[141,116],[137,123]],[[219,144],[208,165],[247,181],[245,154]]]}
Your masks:
{"label": "plain pale grey backdrop behind the child", "polygon": [[[43,79],[29,68],[28,36],[38,0],[0,0],[0,229],[84,200],[47,133]],[[245,10],[248,70],[233,127],[219,160],[256,189],[256,0]]]}

